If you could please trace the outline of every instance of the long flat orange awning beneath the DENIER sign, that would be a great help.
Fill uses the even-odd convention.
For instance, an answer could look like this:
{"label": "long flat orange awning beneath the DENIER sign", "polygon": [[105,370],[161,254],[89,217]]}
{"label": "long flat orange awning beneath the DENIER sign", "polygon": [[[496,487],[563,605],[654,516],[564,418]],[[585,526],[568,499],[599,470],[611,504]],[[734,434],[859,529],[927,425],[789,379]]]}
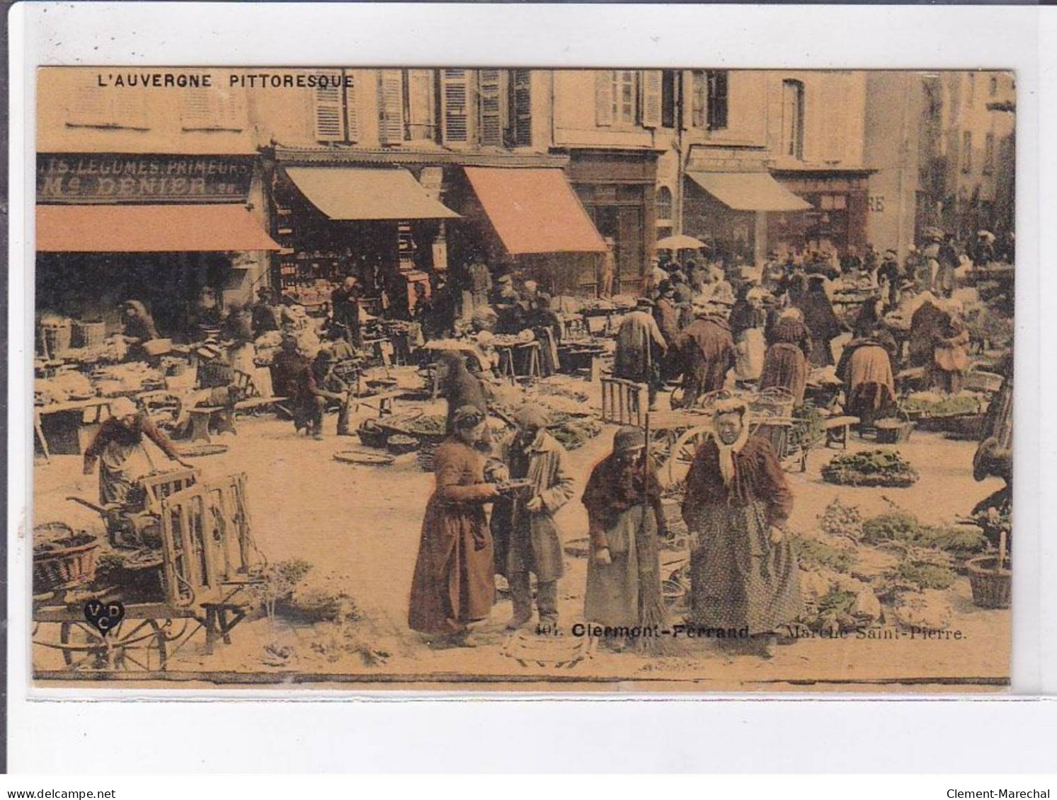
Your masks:
{"label": "long flat orange awning beneath the DENIER sign", "polygon": [[278,250],[245,206],[37,206],[41,252]]}

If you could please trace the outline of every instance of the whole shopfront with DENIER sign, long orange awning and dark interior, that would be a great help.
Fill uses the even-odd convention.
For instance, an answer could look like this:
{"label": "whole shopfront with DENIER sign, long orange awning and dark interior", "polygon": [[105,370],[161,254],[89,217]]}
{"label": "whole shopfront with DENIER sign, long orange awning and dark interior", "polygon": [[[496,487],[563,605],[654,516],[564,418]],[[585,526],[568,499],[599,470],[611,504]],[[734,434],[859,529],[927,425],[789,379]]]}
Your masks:
{"label": "whole shopfront with DENIER sign, long orange awning and dark interior", "polygon": [[278,249],[259,190],[248,154],[40,154],[37,308],[117,329],[120,304],[140,300],[180,338],[203,296],[248,302]]}

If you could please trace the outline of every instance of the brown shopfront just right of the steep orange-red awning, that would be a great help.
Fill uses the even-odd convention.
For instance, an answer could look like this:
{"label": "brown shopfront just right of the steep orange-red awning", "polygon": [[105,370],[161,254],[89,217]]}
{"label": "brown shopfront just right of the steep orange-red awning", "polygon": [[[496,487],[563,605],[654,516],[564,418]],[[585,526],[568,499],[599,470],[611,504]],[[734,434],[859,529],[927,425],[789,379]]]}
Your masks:
{"label": "brown shopfront just right of the steep orange-red awning", "polygon": [[[614,293],[637,293],[656,241],[654,193],[657,153],[652,150],[573,150],[569,179],[615,261]],[[579,293],[597,291],[600,266],[585,265]]]}

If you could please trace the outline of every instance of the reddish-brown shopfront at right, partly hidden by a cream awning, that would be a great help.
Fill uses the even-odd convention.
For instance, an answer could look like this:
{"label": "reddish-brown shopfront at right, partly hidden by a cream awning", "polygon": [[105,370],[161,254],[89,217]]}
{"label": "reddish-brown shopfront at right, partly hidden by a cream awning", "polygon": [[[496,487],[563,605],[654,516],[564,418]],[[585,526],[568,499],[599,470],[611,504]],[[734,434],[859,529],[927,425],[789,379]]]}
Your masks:
{"label": "reddish-brown shopfront at right, partly hidden by a cream awning", "polygon": [[779,249],[849,247],[867,244],[867,187],[870,170],[776,170],[775,178],[811,208],[796,217],[772,215],[768,237]]}

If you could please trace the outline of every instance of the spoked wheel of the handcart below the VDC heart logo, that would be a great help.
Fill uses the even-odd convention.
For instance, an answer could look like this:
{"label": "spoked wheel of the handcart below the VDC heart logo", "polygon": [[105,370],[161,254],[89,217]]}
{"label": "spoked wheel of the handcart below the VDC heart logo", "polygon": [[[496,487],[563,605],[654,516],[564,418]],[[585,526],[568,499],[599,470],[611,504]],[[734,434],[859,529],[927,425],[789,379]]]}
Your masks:
{"label": "spoked wheel of the handcart below the VDC heart logo", "polygon": [[106,636],[87,623],[68,622],[59,628],[58,647],[71,670],[154,672],[165,669],[167,641],[154,620],[122,620]]}

